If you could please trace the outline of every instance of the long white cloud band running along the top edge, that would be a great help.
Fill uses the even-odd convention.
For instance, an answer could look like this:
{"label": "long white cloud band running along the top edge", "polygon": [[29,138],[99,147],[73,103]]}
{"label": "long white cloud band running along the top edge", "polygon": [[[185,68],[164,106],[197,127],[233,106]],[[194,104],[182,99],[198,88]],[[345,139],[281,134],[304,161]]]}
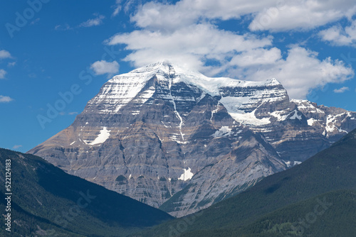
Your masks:
{"label": "long white cloud band running along the top edge", "polygon": [[310,29],[356,13],[354,0],[181,0],[176,4],[149,2],[132,16],[142,28],[172,30],[199,21],[252,16],[252,31]]}

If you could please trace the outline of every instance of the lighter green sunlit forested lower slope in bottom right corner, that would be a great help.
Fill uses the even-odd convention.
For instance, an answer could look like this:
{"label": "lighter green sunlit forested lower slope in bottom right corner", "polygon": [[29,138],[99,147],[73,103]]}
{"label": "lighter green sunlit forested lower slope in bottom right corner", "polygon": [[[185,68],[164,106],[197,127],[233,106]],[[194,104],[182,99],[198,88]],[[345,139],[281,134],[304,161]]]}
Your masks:
{"label": "lighter green sunlit forested lower slope in bottom right corner", "polygon": [[288,205],[241,228],[201,229],[180,236],[353,237],[355,234],[356,191],[339,190]]}

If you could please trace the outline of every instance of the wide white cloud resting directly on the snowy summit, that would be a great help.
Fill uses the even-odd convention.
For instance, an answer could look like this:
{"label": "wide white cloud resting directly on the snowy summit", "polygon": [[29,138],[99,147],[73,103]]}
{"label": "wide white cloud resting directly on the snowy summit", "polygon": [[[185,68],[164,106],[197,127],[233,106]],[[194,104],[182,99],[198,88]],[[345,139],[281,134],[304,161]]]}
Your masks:
{"label": "wide white cloud resting directly on the snowy summit", "polygon": [[133,52],[125,60],[134,62],[136,67],[169,60],[211,74],[209,67],[204,67],[204,60],[224,63],[226,57],[233,57],[236,52],[271,45],[272,38],[238,35],[210,24],[199,24],[180,28],[173,33],[142,30],[117,34],[108,40],[108,44],[127,45],[126,49]]}

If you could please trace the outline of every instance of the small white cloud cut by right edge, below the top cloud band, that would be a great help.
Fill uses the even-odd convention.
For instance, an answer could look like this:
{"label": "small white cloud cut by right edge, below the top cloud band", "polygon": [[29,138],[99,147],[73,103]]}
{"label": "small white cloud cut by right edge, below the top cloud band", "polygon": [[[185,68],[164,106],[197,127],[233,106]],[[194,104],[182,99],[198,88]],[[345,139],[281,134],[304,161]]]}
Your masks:
{"label": "small white cloud cut by right edge, below the top cloud band", "polygon": [[352,21],[351,26],[332,26],[324,31],[320,31],[320,37],[329,41],[333,45],[351,45],[356,47],[356,20]]}

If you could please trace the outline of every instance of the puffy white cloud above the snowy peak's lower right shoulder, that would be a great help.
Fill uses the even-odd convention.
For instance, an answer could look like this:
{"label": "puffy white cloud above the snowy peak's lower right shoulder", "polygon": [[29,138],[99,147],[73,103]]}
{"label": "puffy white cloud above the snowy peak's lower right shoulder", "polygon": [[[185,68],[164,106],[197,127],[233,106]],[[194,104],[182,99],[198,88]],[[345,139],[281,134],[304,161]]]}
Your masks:
{"label": "puffy white cloud above the snowy peak's lower right shoulder", "polygon": [[240,79],[261,81],[276,78],[283,84],[293,99],[305,99],[311,89],[328,83],[345,82],[354,76],[352,68],[339,60],[318,59],[318,53],[301,47],[288,50],[286,59],[276,60],[271,65],[236,67],[229,75],[240,75]]}

